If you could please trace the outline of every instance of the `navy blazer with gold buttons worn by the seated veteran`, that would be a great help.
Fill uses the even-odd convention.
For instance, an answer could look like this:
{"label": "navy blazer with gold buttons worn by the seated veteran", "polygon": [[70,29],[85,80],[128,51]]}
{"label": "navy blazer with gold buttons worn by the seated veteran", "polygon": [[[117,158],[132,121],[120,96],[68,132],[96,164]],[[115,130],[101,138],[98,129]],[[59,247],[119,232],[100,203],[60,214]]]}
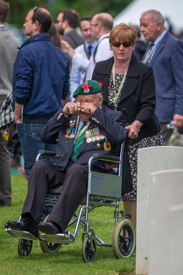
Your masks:
{"label": "navy blazer with gold buttons worn by the seated veteran", "polygon": [[[66,130],[67,128],[70,128],[70,121],[77,120],[78,116],[78,114],[74,114],[65,117],[65,115],[62,114],[62,109],[60,109],[54,117],[48,121],[40,134],[40,138],[43,142],[57,144],[56,156],[52,157],[50,160],[44,160],[61,171],[65,169],[65,166],[68,163],[74,144],[74,138],[65,137]],[[60,119],[59,115],[61,116]],[[98,123],[95,122],[94,119],[96,119]],[[79,148],[78,158],[74,164],[87,164],[89,158],[94,153],[119,156],[120,145],[126,139],[123,114],[102,107],[102,109],[98,108],[94,111],[94,113],[89,117],[89,121],[91,123],[88,130],[94,127],[99,127],[101,132],[104,133],[110,141],[111,151],[104,151],[105,139],[87,143],[86,138],[84,137],[83,143]],[[97,162],[96,164],[101,168],[105,168],[101,162]]]}

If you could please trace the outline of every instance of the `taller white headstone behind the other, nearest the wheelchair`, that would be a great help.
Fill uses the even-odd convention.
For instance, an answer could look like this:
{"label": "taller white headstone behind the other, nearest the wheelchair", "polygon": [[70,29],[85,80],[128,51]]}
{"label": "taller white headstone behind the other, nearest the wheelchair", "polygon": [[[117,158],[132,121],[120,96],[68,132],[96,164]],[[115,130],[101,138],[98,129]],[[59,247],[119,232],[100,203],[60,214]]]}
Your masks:
{"label": "taller white headstone behind the other, nearest the wheelchair", "polygon": [[183,168],[183,147],[157,146],[138,150],[136,275],[148,274],[150,173]]}

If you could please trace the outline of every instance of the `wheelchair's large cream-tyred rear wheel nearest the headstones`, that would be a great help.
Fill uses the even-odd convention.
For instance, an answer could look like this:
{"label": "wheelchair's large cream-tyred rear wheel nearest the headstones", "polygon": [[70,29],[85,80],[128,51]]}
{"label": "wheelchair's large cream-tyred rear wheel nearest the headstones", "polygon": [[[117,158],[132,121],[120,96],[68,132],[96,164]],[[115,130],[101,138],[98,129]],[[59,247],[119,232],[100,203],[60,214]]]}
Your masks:
{"label": "wheelchair's large cream-tyred rear wheel nearest the headstones", "polygon": [[118,221],[112,232],[112,250],[114,256],[129,258],[134,253],[136,244],[135,229],[131,221],[122,219]]}

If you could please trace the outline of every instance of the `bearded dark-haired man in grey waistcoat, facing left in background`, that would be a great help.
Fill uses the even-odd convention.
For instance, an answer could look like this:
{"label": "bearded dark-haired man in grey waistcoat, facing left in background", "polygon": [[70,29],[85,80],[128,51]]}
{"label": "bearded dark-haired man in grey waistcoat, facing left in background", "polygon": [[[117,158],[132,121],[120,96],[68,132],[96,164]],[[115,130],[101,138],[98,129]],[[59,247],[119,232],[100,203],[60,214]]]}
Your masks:
{"label": "bearded dark-haired man in grey waistcoat, facing left in background", "polygon": [[61,39],[67,41],[73,49],[84,43],[83,37],[76,32],[78,24],[79,14],[74,9],[59,11],[55,25]]}

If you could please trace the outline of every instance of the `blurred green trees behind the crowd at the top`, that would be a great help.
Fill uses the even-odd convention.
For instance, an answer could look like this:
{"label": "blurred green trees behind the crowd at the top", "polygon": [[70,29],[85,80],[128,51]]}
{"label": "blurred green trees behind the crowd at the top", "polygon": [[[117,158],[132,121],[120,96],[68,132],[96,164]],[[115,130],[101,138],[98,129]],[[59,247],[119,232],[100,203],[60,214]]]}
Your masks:
{"label": "blurred green trees behind the crowd at the top", "polygon": [[63,8],[75,9],[80,17],[108,12],[113,17],[118,15],[132,0],[5,0],[10,4],[7,23],[22,27],[27,12],[35,6],[44,7],[52,16],[53,22]]}

